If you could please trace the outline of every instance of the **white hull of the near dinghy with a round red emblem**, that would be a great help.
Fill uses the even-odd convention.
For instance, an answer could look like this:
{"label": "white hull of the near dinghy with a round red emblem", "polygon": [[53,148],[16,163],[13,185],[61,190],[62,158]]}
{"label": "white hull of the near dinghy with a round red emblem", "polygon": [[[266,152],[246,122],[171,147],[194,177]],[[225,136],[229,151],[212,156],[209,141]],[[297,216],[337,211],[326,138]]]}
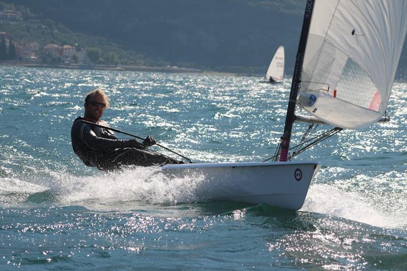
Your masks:
{"label": "white hull of the near dinghy with a round red emblem", "polygon": [[261,204],[298,210],[321,167],[316,162],[205,163],[165,165],[173,177],[203,176],[216,189],[211,200]]}

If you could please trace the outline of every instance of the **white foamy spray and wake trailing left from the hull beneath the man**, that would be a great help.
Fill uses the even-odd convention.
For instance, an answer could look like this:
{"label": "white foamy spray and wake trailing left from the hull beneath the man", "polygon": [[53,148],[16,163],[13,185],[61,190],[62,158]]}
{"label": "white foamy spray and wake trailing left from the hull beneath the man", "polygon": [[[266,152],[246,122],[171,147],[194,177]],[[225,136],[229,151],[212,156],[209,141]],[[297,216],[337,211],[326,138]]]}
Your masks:
{"label": "white foamy spray and wake trailing left from the hull beneath the man", "polygon": [[216,190],[200,174],[169,176],[159,167],[130,167],[109,173],[96,171],[88,176],[48,173],[32,176],[31,181],[0,179],[3,187],[0,204],[10,207],[42,202],[45,205],[52,200],[53,205],[128,210],[146,204],[205,202]]}

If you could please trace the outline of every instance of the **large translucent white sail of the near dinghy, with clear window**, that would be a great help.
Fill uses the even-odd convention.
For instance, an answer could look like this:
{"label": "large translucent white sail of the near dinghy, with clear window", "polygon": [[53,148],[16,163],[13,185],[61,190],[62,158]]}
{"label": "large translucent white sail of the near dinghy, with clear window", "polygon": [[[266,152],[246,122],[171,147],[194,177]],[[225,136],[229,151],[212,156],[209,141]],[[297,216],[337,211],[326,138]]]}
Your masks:
{"label": "large translucent white sail of the near dinghy, with clear window", "polygon": [[389,102],[406,14],[401,0],[316,0],[297,104],[341,128],[377,122]]}

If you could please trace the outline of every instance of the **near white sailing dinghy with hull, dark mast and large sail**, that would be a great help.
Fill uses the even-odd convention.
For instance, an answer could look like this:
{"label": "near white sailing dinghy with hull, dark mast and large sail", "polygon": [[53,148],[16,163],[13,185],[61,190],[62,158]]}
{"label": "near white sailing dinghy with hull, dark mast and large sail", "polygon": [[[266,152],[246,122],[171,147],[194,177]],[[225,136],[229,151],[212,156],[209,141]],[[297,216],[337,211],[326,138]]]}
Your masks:
{"label": "near white sailing dinghy with hull, dark mast and large sail", "polygon": [[[307,0],[284,131],[273,162],[165,165],[163,172],[203,176],[216,187],[212,200],[301,208],[320,165],[289,160],[344,128],[381,121],[407,31],[406,14],[407,1]],[[296,106],[311,116],[296,116]],[[295,121],[310,126],[300,144],[290,148]],[[314,124],[335,128],[306,140]]]}

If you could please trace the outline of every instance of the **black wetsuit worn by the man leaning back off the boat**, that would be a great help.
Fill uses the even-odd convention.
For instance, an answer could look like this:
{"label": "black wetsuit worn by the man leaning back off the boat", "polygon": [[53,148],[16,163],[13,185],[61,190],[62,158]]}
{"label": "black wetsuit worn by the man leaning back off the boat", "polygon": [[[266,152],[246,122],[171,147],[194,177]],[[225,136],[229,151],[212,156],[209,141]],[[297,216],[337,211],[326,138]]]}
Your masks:
{"label": "black wetsuit worn by the man leaning back off the boat", "polygon": [[77,117],[71,129],[71,141],[75,154],[86,166],[101,170],[119,169],[125,165],[154,166],[183,163],[153,153],[141,147],[136,140],[120,140],[113,132],[81,122]]}

